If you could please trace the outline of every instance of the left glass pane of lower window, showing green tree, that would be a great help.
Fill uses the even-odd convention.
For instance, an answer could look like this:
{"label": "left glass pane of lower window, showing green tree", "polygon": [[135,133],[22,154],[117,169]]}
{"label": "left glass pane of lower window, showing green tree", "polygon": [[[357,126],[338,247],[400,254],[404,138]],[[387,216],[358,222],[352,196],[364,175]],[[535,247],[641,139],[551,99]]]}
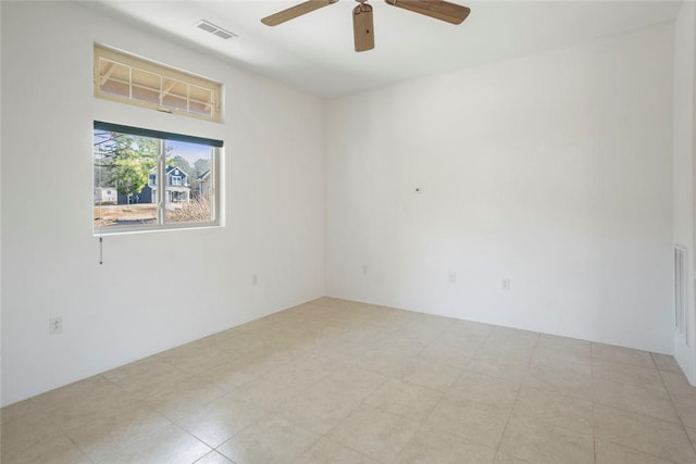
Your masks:
{"label": "left glass pane of lower window, showing green tree", "polygon": [[158,140],[95,130],[95,228],[157,223]]}

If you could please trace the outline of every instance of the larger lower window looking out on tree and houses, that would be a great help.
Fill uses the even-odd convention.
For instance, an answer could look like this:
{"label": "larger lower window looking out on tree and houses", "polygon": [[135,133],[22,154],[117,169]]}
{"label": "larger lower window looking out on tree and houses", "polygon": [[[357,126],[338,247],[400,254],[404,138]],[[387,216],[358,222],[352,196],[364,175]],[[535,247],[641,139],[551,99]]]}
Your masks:
{"label": "larger lower window looking out on tree and houses", "polygon": [[95,234],[219,225],[222,145],[96,121]]}

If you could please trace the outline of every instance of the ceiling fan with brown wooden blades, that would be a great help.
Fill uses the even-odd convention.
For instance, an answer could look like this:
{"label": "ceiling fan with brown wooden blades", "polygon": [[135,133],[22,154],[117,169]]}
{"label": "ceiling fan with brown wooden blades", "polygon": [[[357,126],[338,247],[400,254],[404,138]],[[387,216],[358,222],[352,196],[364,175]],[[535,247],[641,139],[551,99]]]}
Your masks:
{"label": "ceiling fan with brown wooden blades", "polygon": [[[261,20],[266,26],[277,26],[287,21],[294,20],[307,13],[311,13],[320,8],[328,7],[338,0],[309,0],[303,3],[290,7],[275,14]],[[359,4],[352,11],[352,30],[355,36],[356,51],[366,51],[374,48],[374,35],[372,27],[372,5],[368,0],[356,0]],[[461,24],[470,9],[457,3],[444,0],[384,0],[391,7],[401,8],[425,16],[445,21],[450,24]]]}

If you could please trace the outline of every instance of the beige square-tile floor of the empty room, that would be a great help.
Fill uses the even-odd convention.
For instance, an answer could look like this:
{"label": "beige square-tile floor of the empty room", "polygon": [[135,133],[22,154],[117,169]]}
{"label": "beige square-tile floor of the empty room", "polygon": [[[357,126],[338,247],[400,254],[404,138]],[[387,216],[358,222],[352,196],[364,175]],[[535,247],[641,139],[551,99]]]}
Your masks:
{"label": "beige square-tile floor of the empty room", "polygon": [[671,356],[323,298],[10,405],[2,463],[696,463]]}

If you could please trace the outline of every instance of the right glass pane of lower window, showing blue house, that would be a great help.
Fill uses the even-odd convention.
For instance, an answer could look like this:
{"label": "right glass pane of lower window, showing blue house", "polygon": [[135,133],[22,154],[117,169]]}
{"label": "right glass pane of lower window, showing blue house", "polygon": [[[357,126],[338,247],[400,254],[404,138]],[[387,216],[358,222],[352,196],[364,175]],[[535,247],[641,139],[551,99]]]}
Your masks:
{"label": "right glass pane of lower window, showing blue house", "polygon": [[212,148],[166,140],[165,223],[208,223],[212,209]]}

